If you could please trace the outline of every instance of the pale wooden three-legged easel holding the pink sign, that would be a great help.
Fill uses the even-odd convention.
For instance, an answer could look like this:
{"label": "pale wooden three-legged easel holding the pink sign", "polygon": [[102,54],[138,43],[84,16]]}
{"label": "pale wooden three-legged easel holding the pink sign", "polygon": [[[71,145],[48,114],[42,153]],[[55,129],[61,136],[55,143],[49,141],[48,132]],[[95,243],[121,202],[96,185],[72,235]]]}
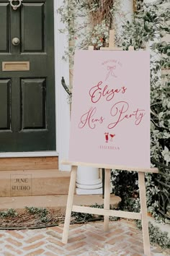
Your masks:
{"label": "pale wooden three-legged easel holding the pink sign", "polygon": [[[114,30],[110,30],[109,33],[109,47],[101,48],[101,50],[121,50],[121,48],[115,48],[114,43]],[[89,46],[92,50],[93,46]],[[129,50],[133,50],[130,48]],[[144,254],[147,256],[151,255],[150,252],[150,242],[148,234],[148,218],[147,218],[147,207],[146,207],[146,184],[145,184],[145,173],[158,173],[158,168],[128,168],[126,166],[110,166],[102,163],[83,163],[83,162],[71,162],[62,161],[62,164],[71,166],[71,180],[68,190],[68,200],[66,206],[66,217],[63,228],[63,244],[68,242],[68,231],[71,221],[71,211],[77,213],[90,213],[104,216],[104,231],[109,230],[109,216],[115,216],[120,218],[132,218],[142,221],[142,231],[143,231],[143,247]],[[76,186],[76,175],[78,166],[91,166],[95,168],[104,168],[105,171],[105,181],[104,181],[104,209],[91,208],[86,206],[73,205],[73,195]],[[109,210],[110,202],[110,173],[112,169],[126,170],[126,171],[138,171],[138,184],[140,192],[140,213],[124,212],[122,210]]]}

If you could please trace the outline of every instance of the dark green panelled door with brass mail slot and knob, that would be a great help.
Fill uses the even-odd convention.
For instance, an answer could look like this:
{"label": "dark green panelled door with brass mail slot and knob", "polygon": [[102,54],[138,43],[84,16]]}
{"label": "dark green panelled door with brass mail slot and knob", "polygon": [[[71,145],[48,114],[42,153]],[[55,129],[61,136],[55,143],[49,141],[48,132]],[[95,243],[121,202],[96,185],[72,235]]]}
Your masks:
{"label": "dark green panelled door with brass mail slot and knob", "polygon": [[53,0],[0,0],[0,152],[55,150],[53,37]]}

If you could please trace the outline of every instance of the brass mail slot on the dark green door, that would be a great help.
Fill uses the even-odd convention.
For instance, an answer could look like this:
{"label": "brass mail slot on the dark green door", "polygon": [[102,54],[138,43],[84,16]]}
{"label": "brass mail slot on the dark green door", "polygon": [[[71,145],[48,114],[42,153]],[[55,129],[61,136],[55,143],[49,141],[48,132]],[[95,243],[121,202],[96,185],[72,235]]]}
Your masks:
{"label": "brass mail slot on the dark green door", "polygon": [[30,61],[3,61],[2,71],[28,71]]}

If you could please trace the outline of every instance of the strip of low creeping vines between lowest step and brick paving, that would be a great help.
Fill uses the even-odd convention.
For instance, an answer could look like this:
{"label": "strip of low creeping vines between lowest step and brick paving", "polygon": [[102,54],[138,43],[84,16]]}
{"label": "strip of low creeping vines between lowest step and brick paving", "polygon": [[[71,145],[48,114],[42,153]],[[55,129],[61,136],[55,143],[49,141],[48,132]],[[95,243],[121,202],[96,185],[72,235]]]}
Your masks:
{"label": "strip of low creeping vines between lowest step and brick paving", "polygon": [[[94,205],[91,205],[94,207]],[[64,223],[65,216],[60,209],[25,207],[24,209],[0,210],[1,229],[42,229]],[[103,216],[87,213],[72,213],[71,224],[101,221]]]}

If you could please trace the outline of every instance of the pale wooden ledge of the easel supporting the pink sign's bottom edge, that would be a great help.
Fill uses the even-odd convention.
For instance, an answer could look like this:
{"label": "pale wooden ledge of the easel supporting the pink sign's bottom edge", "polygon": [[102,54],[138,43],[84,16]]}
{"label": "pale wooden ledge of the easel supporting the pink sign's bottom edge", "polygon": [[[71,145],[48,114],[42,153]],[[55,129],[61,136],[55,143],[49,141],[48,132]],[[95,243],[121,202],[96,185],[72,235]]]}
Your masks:
{"label": "pale wooden ledge of the easel supporting the pink sign's bottom edge", "polygon": [[124,171],[150,172],[153,174],[158,174],[158,168],[114,166],[114,165],[107,165],[104,163],[84,163],[84,162],[72,162],[72,161],[68,161],[68,160],[62,160],[61,164],[69,165],[69,166],[91,166],[91,167],[95,167],[95,168],[117,169],[117,170],[124,170]]}

